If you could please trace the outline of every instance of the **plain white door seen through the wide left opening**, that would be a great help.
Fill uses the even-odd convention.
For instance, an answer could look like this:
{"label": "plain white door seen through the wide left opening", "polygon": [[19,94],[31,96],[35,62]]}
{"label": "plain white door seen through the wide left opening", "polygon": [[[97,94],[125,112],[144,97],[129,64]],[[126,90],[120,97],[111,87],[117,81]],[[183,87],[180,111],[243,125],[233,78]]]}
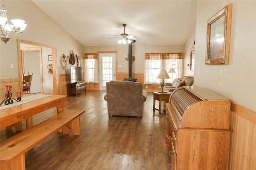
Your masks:
{"label": "plain white door seen through the wide left opening", "polygon": [[39,51],[23,51],[23,64],[25,74],[32,74],[30,86],[31,93],[41,92],[40,56]]}

